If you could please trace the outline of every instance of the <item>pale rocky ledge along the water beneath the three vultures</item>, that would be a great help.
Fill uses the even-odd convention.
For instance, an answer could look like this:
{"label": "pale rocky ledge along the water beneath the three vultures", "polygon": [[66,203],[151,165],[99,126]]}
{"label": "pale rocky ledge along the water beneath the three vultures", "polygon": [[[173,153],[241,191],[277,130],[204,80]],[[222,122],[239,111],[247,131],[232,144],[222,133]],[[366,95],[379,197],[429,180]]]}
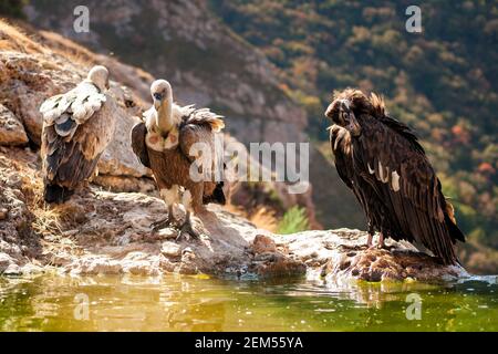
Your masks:
{"label": "pale rocky ledge along the water beneath the three vultures", "polygon": [[[3,274],[176,272],[240,279],[309,277],[326,282],[435,281],[466,274],[409,244],[366,249],[362,231],[273,235],[216,206],[194,219],[200,239],[177,239],[174,228],[153,232],[152,223],[165,217],[166,207],[145,194],[92,188],[63,206],[48,208],[40,200],[37,157],[29,150],[0,149],[0,188]],[[177,218],[184,216],[180,209],[175,212]]]}

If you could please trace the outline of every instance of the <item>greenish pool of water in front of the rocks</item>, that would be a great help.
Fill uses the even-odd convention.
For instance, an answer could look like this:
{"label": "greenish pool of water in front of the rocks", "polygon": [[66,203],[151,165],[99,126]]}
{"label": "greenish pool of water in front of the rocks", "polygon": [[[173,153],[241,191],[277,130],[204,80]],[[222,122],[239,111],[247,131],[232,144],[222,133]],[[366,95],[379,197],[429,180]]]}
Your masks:
{"label": "greenish pool of water in front of the rocks", "polygon": [[[409,293],[421,320],[407,320]],[[498,331],[497,277],[429,285],[0,278],[0,331]],[[416,312],[411,312],[416,313]]]}

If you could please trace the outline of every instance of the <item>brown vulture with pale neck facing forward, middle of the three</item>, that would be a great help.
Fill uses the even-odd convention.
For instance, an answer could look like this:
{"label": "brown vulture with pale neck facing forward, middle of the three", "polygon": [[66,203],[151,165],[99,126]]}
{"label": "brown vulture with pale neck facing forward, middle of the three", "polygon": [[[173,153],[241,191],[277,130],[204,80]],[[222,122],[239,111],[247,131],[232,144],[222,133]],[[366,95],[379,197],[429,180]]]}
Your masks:
{"label": "brown vulture with pale neck facing forward, middle of the three", "polygon": [[[221,116],[207,108],[178,106],[173,102],[170,84],[165,80],[155,81],[151,86],[154,105],[145,112],[145,123],[132,129],[132,147],[142,164],[152,169],[160,196],[168,207],[168,217],[155,222],[154,230],[176,226],[178,237],[190,235],[194,230],[190,215],[199,212],[208,202],[225,204],[222,181],[194,180],[190,176],[191,156],[195,144],[204,144],[214,152],[215,133],[224,127]],[[214,168],[203,166],[203,168]],[[174,205],[181,202],[186,209],[185,221],[175,220]]]}

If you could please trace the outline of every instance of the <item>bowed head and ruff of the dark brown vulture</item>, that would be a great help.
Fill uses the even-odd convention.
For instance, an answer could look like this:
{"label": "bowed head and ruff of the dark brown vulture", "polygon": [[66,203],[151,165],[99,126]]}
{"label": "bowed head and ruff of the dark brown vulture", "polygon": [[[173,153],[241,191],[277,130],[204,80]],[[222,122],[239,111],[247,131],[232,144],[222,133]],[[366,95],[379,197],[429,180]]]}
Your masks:
{"label": "bowed head and ruff of the dark brown vulture", "polygon": [[370,114],[372,116],[384,115],[384,101],[372,93],[367,97],[360,90],[346,88],[334,94],[332,103],[325,111],[325,116],[339,126],[346,128],[353,136],[361,134],[361,125],[357,116]]}

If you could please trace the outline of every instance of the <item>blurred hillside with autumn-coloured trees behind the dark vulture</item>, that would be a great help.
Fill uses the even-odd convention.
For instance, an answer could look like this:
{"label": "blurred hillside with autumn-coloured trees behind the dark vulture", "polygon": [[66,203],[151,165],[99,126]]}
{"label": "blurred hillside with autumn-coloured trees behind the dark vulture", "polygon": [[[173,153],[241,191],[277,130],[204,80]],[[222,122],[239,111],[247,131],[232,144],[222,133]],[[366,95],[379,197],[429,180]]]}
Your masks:
{"label": "blurred hillside with autumn-coloured trees behind the dark vulture", "polygon": [[422,137],[461,228],[498,248],[497,2],[426,1],[422,33],[405,30],[412,2],[371,3],[210,0],[280,69],[313,139],[328,138],[322,117],[333,90],[384,94],[391,114]]}

